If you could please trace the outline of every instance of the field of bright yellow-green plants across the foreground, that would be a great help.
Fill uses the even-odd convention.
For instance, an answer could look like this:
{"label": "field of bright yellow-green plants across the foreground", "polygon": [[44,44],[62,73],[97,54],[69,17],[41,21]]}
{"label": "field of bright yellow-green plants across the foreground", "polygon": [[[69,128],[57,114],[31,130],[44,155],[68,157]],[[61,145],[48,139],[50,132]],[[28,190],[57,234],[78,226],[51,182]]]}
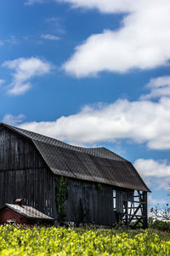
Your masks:
{"label": "field of bright yellow-green plants across the foreground", "polygon": [[0,255],[170,255],[170,234],[154,230],[0,226]]}

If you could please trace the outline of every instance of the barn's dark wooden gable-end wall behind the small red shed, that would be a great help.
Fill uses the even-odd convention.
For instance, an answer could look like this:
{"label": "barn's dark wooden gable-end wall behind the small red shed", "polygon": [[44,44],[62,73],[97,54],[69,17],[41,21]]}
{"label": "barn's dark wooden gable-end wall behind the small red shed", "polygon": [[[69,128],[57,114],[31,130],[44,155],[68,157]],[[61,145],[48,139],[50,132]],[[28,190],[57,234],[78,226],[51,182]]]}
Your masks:
{"label": "barn's dark wooden gable-end wall behind the small red shed", "polygon": [[0,207],[22,198],[23,204],[56,217],[54,176],[33,143],[0,128]]}

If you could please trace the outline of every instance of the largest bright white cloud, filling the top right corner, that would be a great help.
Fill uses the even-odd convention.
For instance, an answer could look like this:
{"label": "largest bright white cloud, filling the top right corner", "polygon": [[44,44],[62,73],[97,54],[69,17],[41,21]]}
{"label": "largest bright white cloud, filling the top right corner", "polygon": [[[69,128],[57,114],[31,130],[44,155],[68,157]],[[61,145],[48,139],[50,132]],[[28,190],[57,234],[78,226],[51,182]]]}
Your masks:
{"label": "largest bright white cloud, filling the top right corner", "polygon": [[168,65],[170,59],[169,0],[60,0],[74,7],[96,8],[102,13],[127,12],[122,27],[91,35],[65,62],[67,73],[77,77],[102,71],[125,73],[134,68]]}

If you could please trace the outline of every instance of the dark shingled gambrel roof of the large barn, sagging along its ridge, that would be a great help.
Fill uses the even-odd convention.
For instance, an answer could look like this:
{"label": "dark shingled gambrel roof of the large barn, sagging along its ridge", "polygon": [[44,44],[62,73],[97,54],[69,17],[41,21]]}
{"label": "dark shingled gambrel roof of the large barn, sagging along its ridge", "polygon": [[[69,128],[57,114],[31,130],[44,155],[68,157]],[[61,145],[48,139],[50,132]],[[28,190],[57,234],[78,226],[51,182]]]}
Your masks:
{"label": "dark shingled gambrel roof of the large barn, sagging along its ridge", "polygon": [[32,131],[5,126],[30,138],[56,175],[150,192],[134,166],[107,148],[76,147]]}

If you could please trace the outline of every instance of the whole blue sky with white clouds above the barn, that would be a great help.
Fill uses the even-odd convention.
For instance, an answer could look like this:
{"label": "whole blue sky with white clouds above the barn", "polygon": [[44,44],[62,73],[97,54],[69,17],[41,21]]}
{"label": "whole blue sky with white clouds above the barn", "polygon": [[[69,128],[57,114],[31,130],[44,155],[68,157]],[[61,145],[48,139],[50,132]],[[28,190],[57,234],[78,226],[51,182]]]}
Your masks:
{"label": "whole blue sky with white clouds above the barn", "polygon": [[130,160],[170,201],[170,1],[0,2],[0,120]]}

